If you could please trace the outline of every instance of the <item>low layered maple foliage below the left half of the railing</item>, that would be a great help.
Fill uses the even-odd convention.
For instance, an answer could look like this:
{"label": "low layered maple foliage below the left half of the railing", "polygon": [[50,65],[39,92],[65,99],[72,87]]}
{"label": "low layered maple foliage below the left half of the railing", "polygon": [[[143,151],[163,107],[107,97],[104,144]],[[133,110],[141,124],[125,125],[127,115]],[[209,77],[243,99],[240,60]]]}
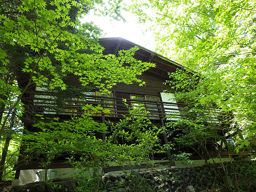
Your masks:
{"label": "low layered maple foliage below the left half of the railing", "polygon": [[[100,107],[84,106],[97,113]],[[103,110],[103,108],[102,108]],[[23,139],[28,141],[29,151],[37,157],[43,155],[42,162],[50,163],[56,155],[83,154],[84,151],[93,151],[101,155],[101,150],[107,148],[102,139],[96,139],[95,133],[106,133],[107,126],[98,123],[84,113],[81,117],[72,120],[59,121],[59,118],[44,118],[34,124],[40,130],[31,134],[24,134]]]}

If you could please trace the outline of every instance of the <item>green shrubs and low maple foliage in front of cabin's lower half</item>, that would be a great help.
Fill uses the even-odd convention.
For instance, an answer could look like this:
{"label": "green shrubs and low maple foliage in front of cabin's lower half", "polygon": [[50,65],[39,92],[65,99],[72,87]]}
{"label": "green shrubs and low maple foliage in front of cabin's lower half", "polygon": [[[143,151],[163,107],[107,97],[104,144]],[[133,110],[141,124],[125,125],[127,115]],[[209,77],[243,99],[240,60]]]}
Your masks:
{"label": "green shrubs and low maple foliage in front of cabin's lower half", "polygon": [[[38,131],[23,136],[28,141],[29,158],[46,166],[58,157],[66,157],[76,168],[74,179],[78,192],[104,191],[102,175],[108,166],[118,165],[124,170],[135,170],[142,163],[153,166],[150,158],[159,152],[159,131],[150,120],[141,118],[131,108],[119,122],[103,124],[91,117],[92,113],[103,112],[102,107],[87,104],[83,109],[91,113],[64,121],[38,115],[40,119],[34,124]],[[137,180],[140,182],[134,188],[142,188],[143,179]]]}

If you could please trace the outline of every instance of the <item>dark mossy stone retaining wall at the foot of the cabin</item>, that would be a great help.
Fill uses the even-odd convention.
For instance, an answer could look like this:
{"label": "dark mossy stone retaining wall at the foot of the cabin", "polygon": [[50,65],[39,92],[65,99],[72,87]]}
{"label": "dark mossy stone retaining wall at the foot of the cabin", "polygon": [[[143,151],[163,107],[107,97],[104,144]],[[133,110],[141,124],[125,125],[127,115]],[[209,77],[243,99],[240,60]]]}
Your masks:
{"label": "dark mossy stone retaining wall at the foot of the cabin", "polygon": [[[218,166],[221,167],[221,164]],[[234,162],[234,167],[231,166],[230,162],[224,162],[224,166],[229,173],[228,182],[231,185],[234,183],[233,170],[235,167],[238,181],[241,184],[242,182],[245,183],[243,190],[247,191],[246,186],[250,186],[250,191],[256,191],[256,163],[254,161]],[[55,186],[46,182],[16,186],[12,188],[11,192],[74,192],[75,184],[72,179],[53,182]],[[103,188],[107,192],[186,192],[188,186],[194,186],[195,191],[200,192],[205,189],[216,188],[222,185],[222,182],[216,167],[213,164],[208,164],[187,168],[150,170],[133,174],[108,175],[104,176]],[[59,185],[62,188],[58,188]]]}

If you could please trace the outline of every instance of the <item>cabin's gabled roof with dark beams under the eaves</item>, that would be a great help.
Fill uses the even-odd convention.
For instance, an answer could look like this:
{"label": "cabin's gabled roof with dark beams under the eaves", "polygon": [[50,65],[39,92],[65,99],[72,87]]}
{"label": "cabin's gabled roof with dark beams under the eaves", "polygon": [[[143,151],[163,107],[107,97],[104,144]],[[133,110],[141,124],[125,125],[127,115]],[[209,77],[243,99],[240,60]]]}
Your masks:
{"label": "cabin's gabled roof with dark beams under the eaves", "polygon": [[105,48],[103,52],[104,54],[117,54],[119,50],[127,50],[134,46],[138,46],[139,50],[136,51],[134,57],[143,62],[152,62],[156,64],[156,68],[150,68],[146,73],[164,78],[165,80],[168,79],[168,72],[174,72],[177,68],[183,68],[181,64],[124,38],[100,38],[99,42]]}

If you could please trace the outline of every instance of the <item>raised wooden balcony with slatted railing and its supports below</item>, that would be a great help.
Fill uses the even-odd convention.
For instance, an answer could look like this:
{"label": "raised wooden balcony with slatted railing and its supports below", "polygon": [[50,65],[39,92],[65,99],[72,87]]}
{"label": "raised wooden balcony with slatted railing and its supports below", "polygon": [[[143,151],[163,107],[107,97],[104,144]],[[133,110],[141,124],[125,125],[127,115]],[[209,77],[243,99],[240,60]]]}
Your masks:
{"label": "raised wooden balcony with slatted railing and its supports below", "polygon": [[[34,98],[27,99],[27,103],[30,103],[30,113],[34,114],[44,114],[46,116],[60,116],[60,118],[70,118],[72,116],[80,116],[85,111],[83,106],[89,104],[92,106],[101,106],[104,109],[108,109],[108,113],[98,112],[97,114],[92,114],[93,118],[105,122],[106,119],[117,122],[120,118],[123,118],[124,115],[128,115],[128,108],[142,109],[147,110],[148,113],[145,114],[136,114],[136,116],[141,116],[143,118],[150,119],[156,126],[164,126],[168,121],[176,121],[179,118],[187,118],[189,111],[188,106],[180,102],[160,102],[160,101],[151,101],[151,100],[136,100],[136,99],[126,99],[124,102],[123,98],[116,97],[107,97],[107,96],[92,96],[92,95],[66,95],[61,93],[53,92],[43,92],[36,91],[33,92]],[[125,103],[125,104],[124,104]],[[173,117],[168,117],[170,114],[175,114]],[[206,114],[196,113],[195,118],[198,116],[203,116]],[[209,114],[208,114],[209,115]],[[218,110],[212,110],[212,120],[214,122],[221,122],[222,120],[230,120],[232,115],[220,112]],[[206,122],[207,123],[207,122]],[[98,138],[105,138],[105,134],[96,134]],[[172,138],[168,138],[166,133],[159,134],[160,143],[167,144]],[[185,149],[184,150],[188,150]],[[191,151],[187,151],[191,153]],[[216,154],[213,154],[216,155]],[[166,154],[155,154],[155,160],[162,160],[166,158]],[[195,159],[200,159],[199,156],[193,156]],[[59,165],[54,165],[53,168],[58,167]],[[70,165],[62,165],[60,167],[68,167]],[[39,168],[39,167],[38,167]],[[22,167],[22,169],[26,169]],[[115,168],[113,168],[115,169]],[[116,168],[118,170],[119,168]]]}

